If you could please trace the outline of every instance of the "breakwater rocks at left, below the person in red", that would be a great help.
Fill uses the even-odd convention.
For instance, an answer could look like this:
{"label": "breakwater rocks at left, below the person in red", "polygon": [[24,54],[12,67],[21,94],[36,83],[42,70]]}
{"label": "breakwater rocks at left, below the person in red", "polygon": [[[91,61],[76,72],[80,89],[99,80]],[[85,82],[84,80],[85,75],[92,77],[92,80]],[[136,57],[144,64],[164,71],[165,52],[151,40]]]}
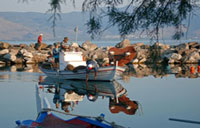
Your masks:
{"label": "breakwater rocks at left, below the person in red", "polygon": [[0,61],[5,64],[35,64],[44,62],[51,51],[52,48],[49,45],[36,50],[35,44],[12,45],[0,42]]}

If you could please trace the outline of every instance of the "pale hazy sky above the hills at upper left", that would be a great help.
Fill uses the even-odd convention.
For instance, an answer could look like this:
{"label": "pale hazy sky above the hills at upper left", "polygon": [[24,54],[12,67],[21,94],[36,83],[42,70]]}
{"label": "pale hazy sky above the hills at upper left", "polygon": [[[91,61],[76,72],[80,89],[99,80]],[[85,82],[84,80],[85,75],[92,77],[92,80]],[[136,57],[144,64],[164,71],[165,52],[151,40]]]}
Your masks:
{"label": "pale hazy sky above the hills at upper left", "polygon": [[[43,12],[50,9],[50,0],[28,0],[28,3],[23,0],[0,0],[0,12],[17,11],[17,12]],[[81,11],[81,2],[77,0],[76,8],[74,9],[72,2],[67,0],[66,4],[62,4],[62,12]]]}

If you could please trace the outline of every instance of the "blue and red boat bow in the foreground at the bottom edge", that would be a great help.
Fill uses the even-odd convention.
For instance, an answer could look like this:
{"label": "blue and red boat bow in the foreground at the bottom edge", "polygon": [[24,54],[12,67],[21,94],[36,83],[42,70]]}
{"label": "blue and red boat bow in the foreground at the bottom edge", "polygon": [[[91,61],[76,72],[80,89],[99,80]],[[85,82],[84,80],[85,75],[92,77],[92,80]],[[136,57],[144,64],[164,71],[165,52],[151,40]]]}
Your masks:
{"label": "blue and red boat bow in the foreground at the bottom edge", "polygon": [[[98,117],[83,116],[70,113],[64,113],[59,110],[51,109],[46,97],[41,97],[39,86],[36,85],[36,103],[38,117],[36,120],[16,121],[18,128],[122,128],[122,126],[109,123],[104,119],[104,114]],[[55,113],[75,116],[71,119],[64,120]]]}

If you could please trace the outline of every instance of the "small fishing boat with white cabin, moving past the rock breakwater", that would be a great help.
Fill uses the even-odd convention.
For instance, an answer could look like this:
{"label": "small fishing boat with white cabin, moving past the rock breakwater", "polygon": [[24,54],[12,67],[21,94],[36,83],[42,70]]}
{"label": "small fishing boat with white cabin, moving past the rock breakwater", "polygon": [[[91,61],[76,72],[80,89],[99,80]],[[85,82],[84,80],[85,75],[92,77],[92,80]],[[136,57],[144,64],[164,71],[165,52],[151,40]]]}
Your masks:
{"label": "small fishing boat with white cabin, moving past the rock breakwater", "polygon": [[[73,70],[66,68],[69,65],[74,67]],[[86,67],[86,61],[83,59],[82,52],[61,52],[59,54],[59,70],[44,67],[41,67],[40,69],[51,78],[86,80]],[[113,81],[120,79],[120,76],[124,71],[125,68],[119,67],[116,62],[116,64],[113,66],[99,67],[96,73],[95,71],[91,70],[88,74],[88,80]]]}

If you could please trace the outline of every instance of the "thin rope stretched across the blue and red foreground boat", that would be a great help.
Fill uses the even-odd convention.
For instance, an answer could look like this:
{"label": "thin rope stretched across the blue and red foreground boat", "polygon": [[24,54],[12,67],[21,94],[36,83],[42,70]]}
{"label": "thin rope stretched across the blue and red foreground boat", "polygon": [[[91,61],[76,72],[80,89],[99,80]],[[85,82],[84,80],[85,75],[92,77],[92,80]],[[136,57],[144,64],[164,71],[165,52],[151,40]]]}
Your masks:
{"label": "thin rope stretched across the blue and red foreground boat", "polygon": [[64,114],[64,115],[69,115],[69,116],[78,116],[78,117],[83,117],[83,118],[93,118],[93,119],[96,119],[96,120],[99,120],[99,121],[104,121],[105,123],[110,124],[113,128],[124,128],[123,126],[117,125],[115,122],[109,122],[109,121],[105,120],[104,117],[102,117],[102,116],[98,116],[98,117],[83,116],[83,115],[77,115],[77,114],[61,112],[61,111],[58,111],[58,110],[55,110],[55,109],[51,109],[51,108],[43,108],[43,110],[40,113],[49,112],[49,111],[57,112],[57,113]]}

